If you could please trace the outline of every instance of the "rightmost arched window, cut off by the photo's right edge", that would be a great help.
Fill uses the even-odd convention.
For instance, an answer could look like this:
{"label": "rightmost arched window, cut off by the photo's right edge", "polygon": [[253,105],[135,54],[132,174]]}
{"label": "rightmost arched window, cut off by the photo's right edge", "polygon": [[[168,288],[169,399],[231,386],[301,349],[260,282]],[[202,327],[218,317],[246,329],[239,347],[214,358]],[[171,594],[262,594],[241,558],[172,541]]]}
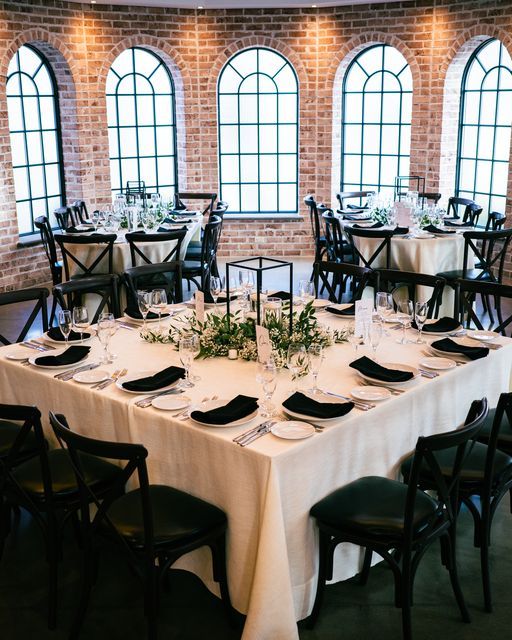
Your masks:
{"label": "rightmost arched window, cut off by the photo's right edge", "polygon": [[505,212],[512,111],[512,60],[498,40],[471,56],[462,78],[456,193]]}

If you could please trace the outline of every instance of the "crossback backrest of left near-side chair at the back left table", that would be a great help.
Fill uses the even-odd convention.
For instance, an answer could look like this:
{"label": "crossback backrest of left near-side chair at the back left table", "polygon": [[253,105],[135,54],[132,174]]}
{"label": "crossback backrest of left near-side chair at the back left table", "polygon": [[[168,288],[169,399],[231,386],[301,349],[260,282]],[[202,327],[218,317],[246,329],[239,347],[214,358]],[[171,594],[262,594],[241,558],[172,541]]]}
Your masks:
{"label": "crossback backrest of left near-side chair at the back left table", "polygon": [[[66,280],[72,275],[83,277],[113,272],[114,242],[117,238],[115,233],[96,233],[90,236],[56,233],[54,237],[62,253]],[[82,253],[84,258],[79,258],[77,253]],[[103,268],[104,261],[107,269]]]}

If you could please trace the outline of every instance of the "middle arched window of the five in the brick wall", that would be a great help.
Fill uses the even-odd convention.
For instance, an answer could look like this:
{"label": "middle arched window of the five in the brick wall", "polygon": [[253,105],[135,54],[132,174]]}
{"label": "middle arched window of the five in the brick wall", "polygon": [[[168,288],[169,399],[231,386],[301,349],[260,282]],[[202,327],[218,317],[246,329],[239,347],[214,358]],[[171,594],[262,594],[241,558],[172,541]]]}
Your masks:
{"label": "middle arched window of the five in the brick wall", "polygon": [[297,76],[282,55],[247,49],[219,77],[220,193],[231,212],[297,211]]}

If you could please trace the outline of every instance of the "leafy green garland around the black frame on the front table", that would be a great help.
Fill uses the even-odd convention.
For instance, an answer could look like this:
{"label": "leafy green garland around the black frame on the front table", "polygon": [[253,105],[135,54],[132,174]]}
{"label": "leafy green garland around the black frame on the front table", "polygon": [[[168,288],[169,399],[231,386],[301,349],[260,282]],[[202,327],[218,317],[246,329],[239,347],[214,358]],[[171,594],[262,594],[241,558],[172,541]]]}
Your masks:
{"label": "leafy green garland around the black frame on the front table", "polygon": [[[349,330],[331,331],[319,324],[315,317],[313,304],[310,302],[300,312],[293,312],[292,332],[289,331],[288,319],[270,316],[266,327],[272,344],[272,355],[276,366],[286,366],[288,346],[301,342],[308,348],[312,344],[328,347],[334,343],[346,342]],[[147,342],[161,342],[177,346],[180,339],[190,333],[199,336],[199,358],[216,358],[227,356],[230,349],[236,349],[238,356],[244,360],[257,360],[256,326],[254,320],[244,319],[239,311],[233,314],[210,314],[204,322],[199,322],[195,313],[192,318],[176,318],[166,334],[148,331],[143,335]]]}

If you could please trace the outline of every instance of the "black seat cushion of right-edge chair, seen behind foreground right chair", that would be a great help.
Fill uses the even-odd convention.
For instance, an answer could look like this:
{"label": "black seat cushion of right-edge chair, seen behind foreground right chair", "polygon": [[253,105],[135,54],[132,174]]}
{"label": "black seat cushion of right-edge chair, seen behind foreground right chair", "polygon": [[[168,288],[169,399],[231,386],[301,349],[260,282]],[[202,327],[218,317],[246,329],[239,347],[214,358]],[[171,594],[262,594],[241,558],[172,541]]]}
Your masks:
{"label": "black seat cushion of right-edge chair, seen behind foreground right chair", "polygon": [[[439,467],[443,476],[450,477],[455,461],[456,448],[444,449],[437,451],[434,455],[439,463]],[[460,475],[460,489],[464,490],[465,485],[481,484],[485,474],[485,459],[487,456],[487,445],[481,442],[475,442],[473,449],[464,461],[464,465]],[[412,457],[407,458],[402,463],[401,471],[404,478],[409,477],[412,464]],[[503,453],[496,451],[494,459],[494,482],[501,482],[504,478],[512,476],[512,458]],[[427,465],[422,469],[422,477],[428,482],[431,478],[430,469]]]}

